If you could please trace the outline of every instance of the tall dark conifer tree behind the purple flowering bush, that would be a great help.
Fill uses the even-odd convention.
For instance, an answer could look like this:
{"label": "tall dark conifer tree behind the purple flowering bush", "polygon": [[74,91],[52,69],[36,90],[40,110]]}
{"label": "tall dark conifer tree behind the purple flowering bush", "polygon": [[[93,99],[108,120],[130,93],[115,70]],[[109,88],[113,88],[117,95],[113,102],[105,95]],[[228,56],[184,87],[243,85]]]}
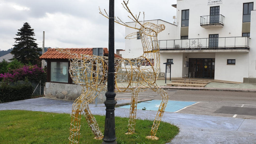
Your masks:
{"label": "tall dark conifer tree behind the purple flowering bush", "polygon": [[25,22],[21,29],[18,29],[16,34],[19,37],[14,38],[15,43],[13,46],[13,50],[11,54],[13,54],[14,58],[24,64],[39,64],[40,65],[40,51],[41,48],[37,47],[37,43],[35,43],[36,39],[33,38],[35,36],[34,29],[31,28],[29,23]]}

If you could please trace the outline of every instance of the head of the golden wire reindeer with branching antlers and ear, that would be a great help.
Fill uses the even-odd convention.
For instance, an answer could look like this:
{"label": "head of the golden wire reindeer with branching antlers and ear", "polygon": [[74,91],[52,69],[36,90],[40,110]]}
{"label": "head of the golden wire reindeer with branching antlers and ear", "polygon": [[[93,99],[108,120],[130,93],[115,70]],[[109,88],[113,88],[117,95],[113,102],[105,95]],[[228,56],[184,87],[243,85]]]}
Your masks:
{"label": "head of the golden wire reindeer with branching antlers and ear", "polygon": [[[129,0],[127,2],[123,1],[124,4],[122,3],[124,9],[131,14],[131,17],[128,16],[132,21],[135,22],[135,26],[134,27],[131,27],[131,26],[128,26],[127,24],[125,24],[121,19],[119,19],[118,17],[115,17],[115,22],[120,24],[120,25],[123,25],[123,26],[126,26],[126,27],[130,27],[130,28],[133,28],[133,29],[137,29],[139,30],[140,34],[144,33],[145,35],[148,35],[148,36],[157,36],[157,34],[161,31],[163,31],[165,29],[165,26],[164,25],[156,25],[156,24],[153,24],[151,22],[146,22],[144,23],[144,17],[145,17],[145,14],[143,12],[143,24],[141,24],[141,22],[139,21],[139,17],[140,17],[140,13],[138,14],[138,17],[137,17],[137,14],[134,16],[134,14],[131,12],[131,10],[129,9],[129,7],[127,6]],[[104,9],[105,14],[102,13],[100,7],[99,7],[99,10],[100,10],[100,14],[102,14],[104,17],[106,18],[109,18],[108,16],[108,13],[106,12],[106,10]],[[136,26],[140,25],[140,28],[136,28]],[[137,33],[131,33],[129,35],[127,35],[125,38],[126,39],[133,39],[133,38],[136,38],[137,37]]]}

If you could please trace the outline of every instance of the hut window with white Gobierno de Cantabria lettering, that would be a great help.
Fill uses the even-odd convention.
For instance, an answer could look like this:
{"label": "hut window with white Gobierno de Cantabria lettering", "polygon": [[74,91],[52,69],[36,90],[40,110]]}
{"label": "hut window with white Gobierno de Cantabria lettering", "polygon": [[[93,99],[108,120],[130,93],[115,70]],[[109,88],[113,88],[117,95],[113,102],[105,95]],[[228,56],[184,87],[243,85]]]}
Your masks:
{"label": "hut window with white Gobierno de Cantabria lettering", "polygon": [[51,62],[50,81],[66,82],[69,79],[69,63],[68,62]]}

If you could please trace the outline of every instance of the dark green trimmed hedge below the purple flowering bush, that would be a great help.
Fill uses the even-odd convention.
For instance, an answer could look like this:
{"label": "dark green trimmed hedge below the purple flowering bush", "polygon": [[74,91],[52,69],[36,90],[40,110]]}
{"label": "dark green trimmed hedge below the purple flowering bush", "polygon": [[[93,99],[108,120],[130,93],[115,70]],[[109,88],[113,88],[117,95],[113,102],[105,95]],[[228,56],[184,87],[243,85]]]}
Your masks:
{"label": "dark green trimmed hedge below the purple flowering bush", "polygon": [[28,81],[1,82],[0,103],[31,98],[33,87]]}

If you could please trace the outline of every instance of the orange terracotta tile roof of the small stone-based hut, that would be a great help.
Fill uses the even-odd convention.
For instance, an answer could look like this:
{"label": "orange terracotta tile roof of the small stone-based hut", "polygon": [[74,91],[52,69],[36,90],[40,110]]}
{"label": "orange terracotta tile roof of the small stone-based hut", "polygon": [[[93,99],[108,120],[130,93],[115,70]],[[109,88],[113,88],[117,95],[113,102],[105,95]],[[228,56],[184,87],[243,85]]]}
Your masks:
{"label": "orange terracotta tile roof of the small stone-based hut", "polygon": [[[92,50],[93,48],[65,48],[67,50],[70,50],[71,52],[74,52],[76,54],[87,54],[87,55],[92,55]],[[108,49],[103,48],[103,56],[108,56]],[[115,54],[115,57],[122,58],[119,55]],[[68,59],[68,57],[61,53],[56,51],[56,49],[48,49],[42,56],[39,58],[41,59]]]}

